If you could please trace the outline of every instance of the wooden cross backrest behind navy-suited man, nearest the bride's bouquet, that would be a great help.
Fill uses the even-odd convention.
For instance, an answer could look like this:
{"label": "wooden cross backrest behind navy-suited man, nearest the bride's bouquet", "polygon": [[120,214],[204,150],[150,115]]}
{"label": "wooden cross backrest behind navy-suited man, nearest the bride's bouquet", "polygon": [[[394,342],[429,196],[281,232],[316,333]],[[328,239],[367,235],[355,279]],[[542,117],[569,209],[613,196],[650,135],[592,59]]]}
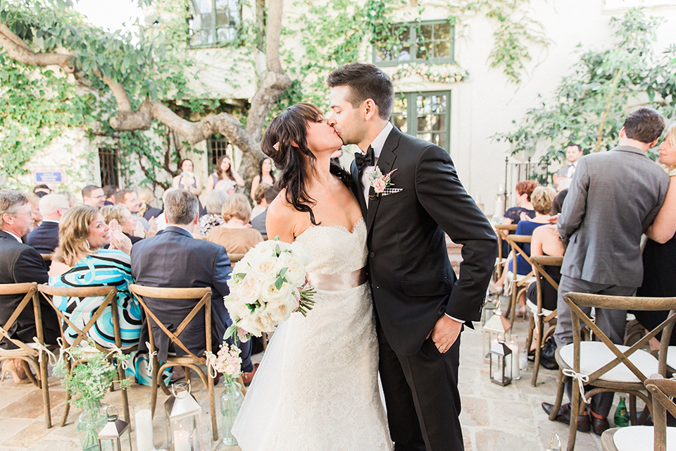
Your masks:
{"label": "wooden cross backrest behind navy-suited man, nearest the bride's bouquet", "polygon": [[[206,363],[204,357],[197,357],[193,354],[180,340],[179,335],[183,330],[188,326],[190,321],[194,319],[196,314],[199,313],[201,309],[204,309],[204,335],[206,340],[206,350],[211,352],[211,288],[155,288],[155,287],[145,287],[143,285],[133,284],[129,286],[129,290],[134,295],[134,297],[139,301],[141,307],[149,318],[151,318],[154,323],[162,330],[162,332],[167,335],[169,338],[169,343],[174,343],[182,350],[184,350],[189,356],[194,357],[201,363]],[[181,321],[176,330],[173,332],[169,330],[163,323],[158,319],[156,314],[149,309],[148,304],[144,301],[143,297],[154,297],[156,299],[199,299],[197,304],[192,308],[190,313]],[[153,330],[151,328],[151,321],[147,321],[148,325],[148,335],[150,342],[150,352],[155,352],[155,339],[153,336]]]}

